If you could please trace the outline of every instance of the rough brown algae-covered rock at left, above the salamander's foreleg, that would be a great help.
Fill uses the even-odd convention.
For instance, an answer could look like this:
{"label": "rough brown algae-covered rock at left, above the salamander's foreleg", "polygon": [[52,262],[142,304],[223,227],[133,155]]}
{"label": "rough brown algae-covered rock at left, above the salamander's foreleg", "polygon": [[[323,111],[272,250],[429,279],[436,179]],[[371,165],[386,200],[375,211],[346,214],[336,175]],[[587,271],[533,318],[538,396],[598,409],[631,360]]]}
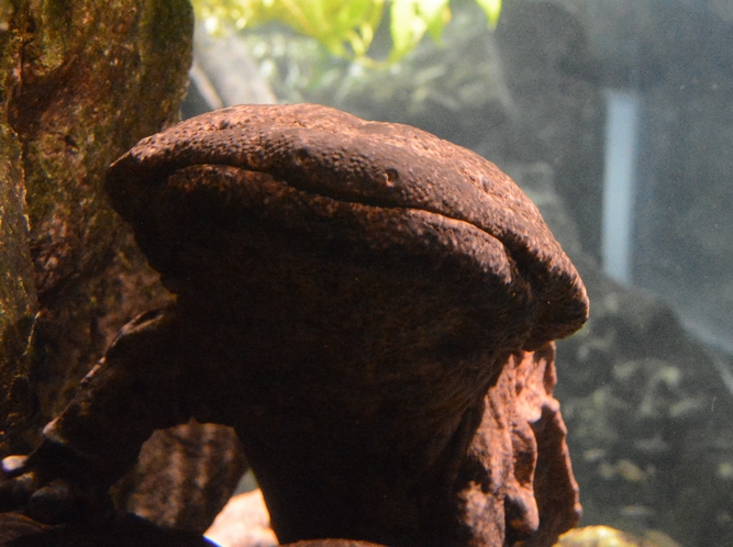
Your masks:
{"label": "rough brown algae-covered rock at left, above the salamander's foreleg", "polygon": [[0,18],[4,453],[66,404],[141,302],[167,298],[103,185],[176,121],[193,15],[187,0],[16,0]]}

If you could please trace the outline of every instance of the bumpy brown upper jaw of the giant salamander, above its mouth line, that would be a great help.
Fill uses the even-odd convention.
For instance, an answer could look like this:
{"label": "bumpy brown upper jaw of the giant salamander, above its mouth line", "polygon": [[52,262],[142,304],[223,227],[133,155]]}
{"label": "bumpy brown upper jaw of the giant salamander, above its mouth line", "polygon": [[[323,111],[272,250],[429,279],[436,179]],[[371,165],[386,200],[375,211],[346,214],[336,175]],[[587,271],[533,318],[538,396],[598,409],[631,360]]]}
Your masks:
{"label": "bumpy brown upper jaw of the giant salamander, above its mouth line", "polygon": [[108,182],[113,205],[133,226],[149,223],[164,196],[151,182],[206,164],[267,174],[341,203],[433,213],[470,225],[462,232],[485,232],[509,257],[491,255],[481,266],[502,276],[514,266],[532,284],[537,310],[527,346],[567,336],[587,319],[582,282],[537,208],[497,166],[434,135],[316,104],[222,109],[143,139],[120,158]]}

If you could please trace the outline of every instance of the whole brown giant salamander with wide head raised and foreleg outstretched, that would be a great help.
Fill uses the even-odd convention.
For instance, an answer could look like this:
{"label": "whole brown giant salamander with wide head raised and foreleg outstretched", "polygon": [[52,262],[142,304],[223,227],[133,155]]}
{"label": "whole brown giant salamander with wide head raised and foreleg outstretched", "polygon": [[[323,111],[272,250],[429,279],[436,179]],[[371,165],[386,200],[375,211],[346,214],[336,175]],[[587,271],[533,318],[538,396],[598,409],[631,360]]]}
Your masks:
{"label": "whole brown giant salamander with wide head raised and foreleg outstretched", "polygon": [[282,543],[552,545],[577,522],[552,341],[588,301],[496,166],[323,107],[236,107],[142,141],[108,190],[177,302],[46,426],[16,504],[88,512],[193,416],[235,428]]}

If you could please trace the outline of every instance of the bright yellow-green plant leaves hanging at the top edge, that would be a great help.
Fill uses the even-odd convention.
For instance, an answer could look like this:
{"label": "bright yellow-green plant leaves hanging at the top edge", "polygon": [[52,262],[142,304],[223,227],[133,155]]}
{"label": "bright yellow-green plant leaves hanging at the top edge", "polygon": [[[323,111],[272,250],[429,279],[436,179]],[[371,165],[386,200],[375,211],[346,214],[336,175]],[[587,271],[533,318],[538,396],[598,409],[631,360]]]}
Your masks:
{"label": "bright yellow-green plant leaves hanging at the top edge", "polygon": [[[375,32],[390,14],[392,51],[389,60],[400,59],[425,34],[440,41],[451,20],[449,0],[192,0],[199,20],[210,30],[222,21],[236,29],[279,22],[311,36],[341,57],[366,59]],[[499,19],[501,0],[476,0],[489,26]]]}

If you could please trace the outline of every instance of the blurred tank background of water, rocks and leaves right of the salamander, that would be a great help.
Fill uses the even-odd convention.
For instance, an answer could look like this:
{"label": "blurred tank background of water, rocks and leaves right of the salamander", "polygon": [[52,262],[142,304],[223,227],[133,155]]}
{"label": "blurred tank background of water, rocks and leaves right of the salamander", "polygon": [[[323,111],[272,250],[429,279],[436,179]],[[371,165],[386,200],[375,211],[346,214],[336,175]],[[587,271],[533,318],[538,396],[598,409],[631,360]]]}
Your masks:
{"label": "blurred tank background of water, rocks and leaves right of the salamander", "polygon": [[590,295],[555,391],[582,524],[733,545],[733,1],[195,7],[186,115],[321,103],[507,171]]}

